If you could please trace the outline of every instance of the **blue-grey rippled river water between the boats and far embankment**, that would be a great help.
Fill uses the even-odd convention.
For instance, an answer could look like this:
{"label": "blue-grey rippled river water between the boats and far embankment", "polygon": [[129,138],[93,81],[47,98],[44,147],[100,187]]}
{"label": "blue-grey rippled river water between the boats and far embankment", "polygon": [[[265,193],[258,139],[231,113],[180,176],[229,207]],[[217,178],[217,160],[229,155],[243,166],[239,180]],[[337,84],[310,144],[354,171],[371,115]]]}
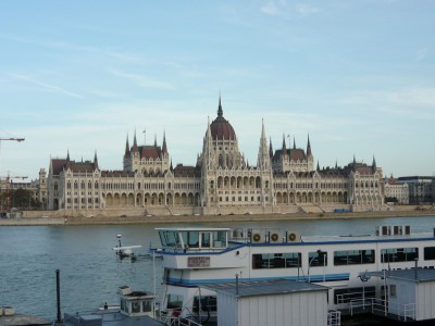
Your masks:
{"label": "blue-grey rippled river water between the boats and far embankment", "polygon": [[[435,216],[207,224],[297,230],[301,236],[373,234],[377,225],[411,225],[412,233],[432,231]],[[145,253],[150,243],[159,246],[159,226],[176,225],[0,226],[0,306],[54,319],[55,269],[60,269],[62,314],[116,303],[116,290],[124,285],[134,290],[156,288],[160,296],[161,261],[156,260],[156,267],[151,259],[120,262],[112,250],[116,236],[122,235],[123,246],[141,244],[138,253]]]}

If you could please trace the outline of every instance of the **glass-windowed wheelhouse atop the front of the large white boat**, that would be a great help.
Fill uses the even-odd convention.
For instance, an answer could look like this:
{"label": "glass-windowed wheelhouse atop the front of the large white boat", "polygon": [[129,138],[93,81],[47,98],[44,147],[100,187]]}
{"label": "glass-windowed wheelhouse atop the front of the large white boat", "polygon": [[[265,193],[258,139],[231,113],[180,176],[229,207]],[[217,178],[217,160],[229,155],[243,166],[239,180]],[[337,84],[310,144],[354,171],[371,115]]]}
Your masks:
{"label": "glass-windowed wheelhouse atop the front of the large white boat", "polygon": [[229,228],[157,228],[164,250],[215,251],[228,248]]}

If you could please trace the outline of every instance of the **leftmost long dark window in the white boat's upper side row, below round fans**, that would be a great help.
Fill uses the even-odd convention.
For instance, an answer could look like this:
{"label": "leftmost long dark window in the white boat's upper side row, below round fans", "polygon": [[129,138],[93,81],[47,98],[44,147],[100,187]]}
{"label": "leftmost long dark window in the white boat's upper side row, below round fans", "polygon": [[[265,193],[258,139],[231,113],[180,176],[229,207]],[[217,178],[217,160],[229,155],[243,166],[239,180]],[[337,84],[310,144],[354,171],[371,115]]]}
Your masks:
{"label": "leftmost long dark window in the white boat's upper side row, below round fans", "polygon": [[300,253],[262,253],[252,254],[252,268],[294,268],[300,267]]}

